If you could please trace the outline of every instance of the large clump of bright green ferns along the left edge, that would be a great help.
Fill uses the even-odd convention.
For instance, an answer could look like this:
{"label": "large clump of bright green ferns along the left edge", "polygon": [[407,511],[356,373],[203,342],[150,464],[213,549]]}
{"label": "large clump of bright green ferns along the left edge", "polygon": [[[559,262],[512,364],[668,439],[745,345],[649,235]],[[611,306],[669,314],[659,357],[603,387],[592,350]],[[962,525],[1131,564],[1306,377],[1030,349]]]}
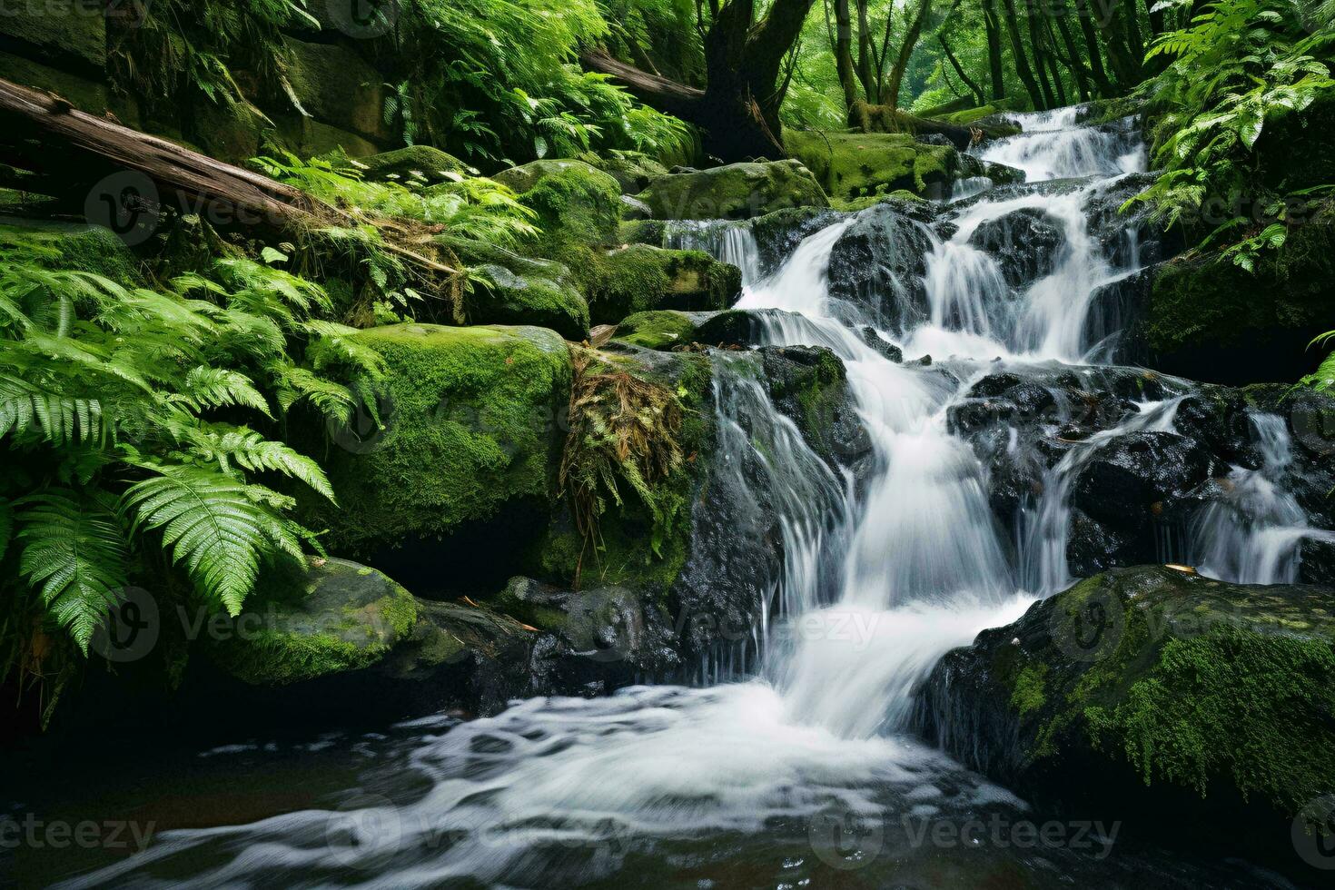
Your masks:
{"label": "large clump of bright green ferns along the left edge", "polygon": [[154,551],[235,614],[260,566],[310,538],[263,480],[334,496],[315,462],[272,438],[275,418],[308,403],[343,422],[379,356],[322,318],[320,287],[252,260],[154,291],[51,268],[23,244],[5,255],[0,543],[19,548],[21,578],[4,582],[17,588],[0,614],[44,612],[87,651]]}

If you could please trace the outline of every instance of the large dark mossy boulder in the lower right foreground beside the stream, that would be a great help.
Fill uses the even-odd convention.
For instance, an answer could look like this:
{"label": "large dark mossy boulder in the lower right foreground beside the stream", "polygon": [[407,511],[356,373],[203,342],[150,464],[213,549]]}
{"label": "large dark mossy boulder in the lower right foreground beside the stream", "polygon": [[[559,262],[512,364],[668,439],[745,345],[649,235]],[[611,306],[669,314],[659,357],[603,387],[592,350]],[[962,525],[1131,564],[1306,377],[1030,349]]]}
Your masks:
{"label": "large dark mossy boulder in the lower right foreground beside the stream", "polygon": [[918,729],[1031,799],[1287,834],[1335,789],[1335,591],[1108,571],[947,655]]}

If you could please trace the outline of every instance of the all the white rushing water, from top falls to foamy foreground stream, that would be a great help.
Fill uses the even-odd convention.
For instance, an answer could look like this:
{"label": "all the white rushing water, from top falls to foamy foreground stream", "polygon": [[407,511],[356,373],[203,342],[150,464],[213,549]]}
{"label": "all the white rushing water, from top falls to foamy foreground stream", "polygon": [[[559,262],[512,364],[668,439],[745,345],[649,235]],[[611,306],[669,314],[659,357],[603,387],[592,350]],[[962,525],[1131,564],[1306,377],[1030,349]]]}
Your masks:
{"label": "all the white rushing water, from top falls to foamy foreground stream", "polygon": [[[1025,132],[988,159],[1020,167],[1031,181],[1143,169],[1143,147],[1128,132],[1075,121],[1073,111],[1021,116]],[[1069,450],[1021,523],[1019,559],[993,516],[983,464],[948,428],[948,408],[995,362],[1016,374],[1076,362],[1111,334],[1087,324],[1092,295],[1133,271],[1125,258],[1139,260],[1128,250],[1115,263],[1088,231],[1088,201],[1105,185],[1095,179],[955,205],[955,231],[929,239],[929,311],[905,315],[925,320],[889,332],[910,355],[955,356],[930,364],[885,358],[858,334],[876,324],[876,311],[830,296],[830,256],[852,220],[804,240],[764,280],[746,226],[670,228],[672,244],[742,268],[741,308],[778,310],[765,315],[769,344],[824,346],[844,360],[873,446],[868,478],[850,484],[774,408],[753,379],[752,356],[714,356],[720,472],[745,484],[746,462],[762,467],[784,538],[784,572],[750,643],[761,656],[758,677],[709,689],[633,687],[593,701],[533,699],[467,723],[409,725],[400,730],[418,735],[391,753],[395,767],[358,790],[375,795],[370,801],[354,795],[343,813],[299,810],[170,831],[147,853],[68,886],[151,886],[183,870],[210,886],[258,878],[557,886],[611,881],[627,859],[661,861],[649,855],[689,870],[709,861],[704,845],[718,837],[738,849],[773,843],[809,854],[806,821],[832,809],[882,826],[892,825],[889,815],[1017,811],[1023,805],[1008,793],[897,731],[914,685],[945,651],[1016,619],[1036,595],[1068,580],[1067,490],[1079,464],[1119,435],[1173,423],[1180,399],[1144,403],[1121,426]],[[1015,211],[1041,213],[1061,235],[1051,267],[1019,284],[971,240]],[[906,291],[869,296],[910,299]],[[1258,430],[1264,439],[1271,423],[1258,420]],[[1263,514],[1267,528],[1300,524],[1266,487],[1283,463],[1278,436],[1271,444],[1263,470],[1236,471],[1236,503],[1203,519],[1211,540],[1228,539],[1219,530],[1236,524],[1239,512]],[[1207,563],[1222,563],[1223,552],[1214,552]],[[1267,559],[1247,556],[1224,571],[1259,575],[1254,563]],[[904,833],[885,830],[882,843],[901,863],[917,854]],[[790,867],[792,857],[780,858]]]}

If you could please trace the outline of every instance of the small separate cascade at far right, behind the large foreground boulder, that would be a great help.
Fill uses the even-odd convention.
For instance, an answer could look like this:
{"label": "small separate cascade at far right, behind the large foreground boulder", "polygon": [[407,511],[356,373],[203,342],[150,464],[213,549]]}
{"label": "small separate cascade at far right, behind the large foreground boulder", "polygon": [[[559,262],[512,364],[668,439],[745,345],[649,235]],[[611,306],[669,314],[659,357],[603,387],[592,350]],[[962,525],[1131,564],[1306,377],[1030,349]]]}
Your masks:
{"label": "small separate cascade at far right, behind the large foreground boulder", "polygon": [[1203,575],[1244,584],[1291,584],[1298,580],[1299,544],[1314,532],[1307,515],[1283,488],[1294,462],[1284,419],[1251,415],[1262,455],[1258,470],[1234,467],[1220,482],[1223,495],[1191,526],[1195,563]]}

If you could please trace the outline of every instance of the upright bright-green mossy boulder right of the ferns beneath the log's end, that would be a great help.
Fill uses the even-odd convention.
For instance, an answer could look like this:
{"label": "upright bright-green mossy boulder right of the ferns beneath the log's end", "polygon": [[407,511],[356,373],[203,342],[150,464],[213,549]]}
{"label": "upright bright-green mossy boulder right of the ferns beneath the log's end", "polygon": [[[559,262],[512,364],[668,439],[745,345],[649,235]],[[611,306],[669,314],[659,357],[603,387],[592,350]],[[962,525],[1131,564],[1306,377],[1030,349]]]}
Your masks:
{"label": "upright bright-green mossy boulder right of the ferns beneath the log's end", "polygon": [[610,246],[621,226],[621,185],[582,160],[535,160],[502,169],[493,179],[507,185],[538,216],[542,235],[533,247],[561,259],[569,244]]}

